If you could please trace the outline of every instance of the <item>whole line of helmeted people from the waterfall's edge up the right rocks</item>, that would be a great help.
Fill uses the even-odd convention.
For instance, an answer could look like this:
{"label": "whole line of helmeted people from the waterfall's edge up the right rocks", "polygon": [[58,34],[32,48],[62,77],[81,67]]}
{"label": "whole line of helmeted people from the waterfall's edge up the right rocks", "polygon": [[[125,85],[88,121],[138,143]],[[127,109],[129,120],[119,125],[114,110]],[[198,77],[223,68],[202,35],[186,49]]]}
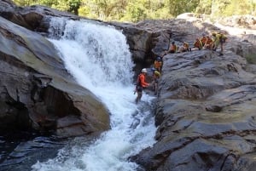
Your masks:
{"label": "whole line of helmeted people from the waterfall's edge up the right rocks", "polygon": [[[212,37],[206,36],[205,34],[202,35],[200,38],[196,38],[194,43],[194,48],[198,48],[199,50],[203,48],[211,49],[216,51],[218,48],[218,45],[220,44],[220,54],[223,55],[224,51],[224,43],[226,42],[227,37],[224,36],[223,32],[212,32]],[[191,48],[189,48],[189,43],[183,42],[183,46],[178,48],[175,42],[172,42],[170,45],[170,48],[165,51],[165,53],[162,56],[156,57],[154,60],[154,68],[151,68],[151,71],[153,73],[153,82],[147,83],[146,82],[146,75],[148,74],[148,71],[146,68],[143,68],[141,73],[137,77],[137,84],[136,89],[134,93],[137,93],[136,103],[138,103],[139,100],[141,100],[143,96],[143,89],[149,87],[150,85],[153,86],[154,94],[157,94],[158,90],[158,82],[161,76],[161,70],[163,66],[163,57],[164,55],[168,53],[182,53],[182,52],[191,52]]]}

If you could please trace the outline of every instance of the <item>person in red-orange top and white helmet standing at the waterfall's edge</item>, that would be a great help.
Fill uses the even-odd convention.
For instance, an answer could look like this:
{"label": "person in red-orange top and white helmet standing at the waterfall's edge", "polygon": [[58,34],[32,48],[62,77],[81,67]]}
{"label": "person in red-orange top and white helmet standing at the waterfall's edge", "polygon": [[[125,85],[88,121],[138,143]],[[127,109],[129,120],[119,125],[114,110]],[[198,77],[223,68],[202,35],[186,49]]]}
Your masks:
{"label": "person in red-orange top and white helmet standing at the waterfall's edge", "polygon": [[137,77],[137,85],[136,85],[136,103],[142,99],[143,97],[143,89],[149,86],[149,83],[146,82],[147,69],[143,68],[142,72]]}

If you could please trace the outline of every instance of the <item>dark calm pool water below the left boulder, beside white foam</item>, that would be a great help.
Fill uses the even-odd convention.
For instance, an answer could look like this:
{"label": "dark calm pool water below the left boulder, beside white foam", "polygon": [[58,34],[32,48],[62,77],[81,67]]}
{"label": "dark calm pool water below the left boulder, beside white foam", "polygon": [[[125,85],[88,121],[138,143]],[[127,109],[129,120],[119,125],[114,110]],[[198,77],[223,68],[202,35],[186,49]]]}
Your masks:
{"label": "dark calm pool water below the left boulder, beside white foam", "polygon": [[57,155],[68,140],[32,132],[9,132],[0,135],[0,171],[26,171],[36,162]]}

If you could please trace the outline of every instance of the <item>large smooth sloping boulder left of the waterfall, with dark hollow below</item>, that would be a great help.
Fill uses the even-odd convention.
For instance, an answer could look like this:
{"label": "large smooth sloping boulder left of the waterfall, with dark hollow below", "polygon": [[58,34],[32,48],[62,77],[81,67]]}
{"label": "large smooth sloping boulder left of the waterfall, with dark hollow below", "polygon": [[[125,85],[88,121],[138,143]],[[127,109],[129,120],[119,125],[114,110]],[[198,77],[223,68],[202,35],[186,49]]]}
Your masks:
{"label": "large smooth sloping boulder left of the waterfall, with dark hollow below", "polygon": [[108,110],[67,73],[52,43],[2,17],[0,26],[1,131],[35,128],[68,137],[110,128]]}

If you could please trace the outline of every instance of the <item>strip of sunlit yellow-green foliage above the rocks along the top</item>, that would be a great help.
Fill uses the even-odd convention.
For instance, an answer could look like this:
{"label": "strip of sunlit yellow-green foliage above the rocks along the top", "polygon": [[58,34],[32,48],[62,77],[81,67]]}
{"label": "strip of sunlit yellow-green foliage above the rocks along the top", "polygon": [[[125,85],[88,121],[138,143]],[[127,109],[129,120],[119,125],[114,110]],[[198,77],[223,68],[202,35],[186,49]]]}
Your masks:
{"label": "strip of sunlit yellow-green foliage above the rocks along the top", "polygon": [[41,4],[90,19],[137,22],[195,12],[212,20],[234,14],[255,15],[256,0],[14,0],[20,6]]}

